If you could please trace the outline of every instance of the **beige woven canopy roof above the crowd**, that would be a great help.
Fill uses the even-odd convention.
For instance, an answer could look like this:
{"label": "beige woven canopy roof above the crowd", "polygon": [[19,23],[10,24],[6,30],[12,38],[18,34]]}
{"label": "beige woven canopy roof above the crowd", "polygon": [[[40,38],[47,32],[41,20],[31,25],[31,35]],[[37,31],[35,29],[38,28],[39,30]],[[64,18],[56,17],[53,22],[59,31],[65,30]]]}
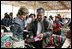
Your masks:
{"label": "beige woven canopy roof above the crowd", "polygon": [[25,6],[28,9],[37,9],[39,7],[43,7],[45,10],[71,9],[71,1],[1,1],[1,4]]}

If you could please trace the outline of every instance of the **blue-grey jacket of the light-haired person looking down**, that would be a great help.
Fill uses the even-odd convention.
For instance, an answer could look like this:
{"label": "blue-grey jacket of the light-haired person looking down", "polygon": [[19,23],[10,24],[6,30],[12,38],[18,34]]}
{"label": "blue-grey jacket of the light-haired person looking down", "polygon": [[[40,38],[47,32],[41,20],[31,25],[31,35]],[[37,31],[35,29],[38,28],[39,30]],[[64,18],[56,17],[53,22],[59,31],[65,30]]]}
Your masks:
{"label": "blue-grey jacket of the light-haired person looking down", "polygon": [[23,21],[16,17],[13,21],[13,26],[11,27],[11,31],[13,32],[14,37],[23,40],[23,30]]}

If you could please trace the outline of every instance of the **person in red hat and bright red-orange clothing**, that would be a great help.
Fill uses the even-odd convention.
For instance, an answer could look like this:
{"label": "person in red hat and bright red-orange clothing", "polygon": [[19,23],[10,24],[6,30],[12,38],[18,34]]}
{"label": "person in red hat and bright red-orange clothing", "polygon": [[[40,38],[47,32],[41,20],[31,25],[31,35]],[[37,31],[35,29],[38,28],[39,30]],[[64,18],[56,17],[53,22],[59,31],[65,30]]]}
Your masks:
{"label": "person in red hat and bright red-orange clothing", "polygon": [[61,35],[61,24],[60,24],[60,21],[59,21],[59,18],[58,16],[55,16],[55,21],[54,21],[54,25],[53,25],[53,34],[56,34],[56,35]]}

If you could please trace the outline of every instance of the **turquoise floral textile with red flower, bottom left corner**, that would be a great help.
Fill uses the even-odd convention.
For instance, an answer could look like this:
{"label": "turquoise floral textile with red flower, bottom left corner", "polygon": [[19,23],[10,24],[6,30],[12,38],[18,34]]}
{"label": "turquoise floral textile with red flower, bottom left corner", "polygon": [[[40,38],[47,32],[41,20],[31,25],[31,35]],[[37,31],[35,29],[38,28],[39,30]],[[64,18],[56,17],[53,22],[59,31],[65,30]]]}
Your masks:
{"label": "turquoise floral textile with red flower, bottom left corner", "polygon": [[1,48],[12,48],[13,41],[10,36],[3,36],[1,37]]}

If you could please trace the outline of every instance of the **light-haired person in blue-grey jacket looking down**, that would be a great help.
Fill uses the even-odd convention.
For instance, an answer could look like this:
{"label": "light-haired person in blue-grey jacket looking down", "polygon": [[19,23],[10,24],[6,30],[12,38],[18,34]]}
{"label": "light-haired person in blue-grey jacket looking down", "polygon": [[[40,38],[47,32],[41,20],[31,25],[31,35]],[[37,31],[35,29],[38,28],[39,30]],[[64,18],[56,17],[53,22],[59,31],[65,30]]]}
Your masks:
{"label": "light-haired person in blue-grey jacket looking down", "polygon": [[25,18],[28,14],[28,9],[26,7],[21,7],[18,10],[17,17],[15,17],[13,21],[13,26],[11,27],[11,31],[13,32],[13,35],[18,40],[24,39],[24,27],[25,27]]}

